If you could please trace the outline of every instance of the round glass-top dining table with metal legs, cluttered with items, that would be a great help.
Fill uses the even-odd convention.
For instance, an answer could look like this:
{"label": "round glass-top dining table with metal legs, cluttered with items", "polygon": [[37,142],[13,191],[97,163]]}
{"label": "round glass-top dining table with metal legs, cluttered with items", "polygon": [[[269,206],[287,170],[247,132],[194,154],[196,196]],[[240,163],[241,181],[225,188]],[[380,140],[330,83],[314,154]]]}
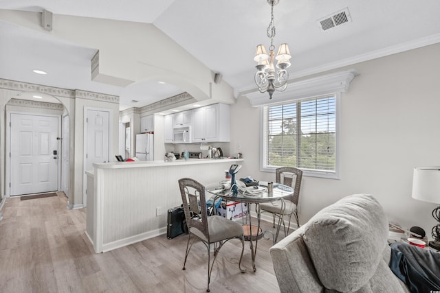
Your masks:
{"label": "round glass-top dining table with metal legs, cluttered with items", "polygon": [[[237,194],[232,192],[232,189],[223,189],[220,184],[212,184],[206,186],[206,191],[210,194],[214,194],[214,202],[216,202],[217,197],[223,198],[226,201],[243,202],[248,204],[248,215],[246,221],[243,224],[243,230],[245,233],[245,240],[249,241],[252,268],[254,272],[256,271],[255,257],[256,257],[256,247],[258,245],[259,238],[263,236],[263,231],[261,229],[261,210],[259,204],[263,202],[274,202],[279,200],[281,202],[281,211],[285,209],[285,203],[283,198],[294,194],[294,189],[287,185],[273,183],[272,191],[268,191],[268,183],[261,183],[256,187],[239,187]],[[256,211],[256,224],[252,224],[252,217],[250,213],[250,204],[255,204]],[[278,226],[276,228],[276,233],[273,235],[273,242],[276,243],[278,234],[280,231],[280,224],[282,219],[278,219]]]}

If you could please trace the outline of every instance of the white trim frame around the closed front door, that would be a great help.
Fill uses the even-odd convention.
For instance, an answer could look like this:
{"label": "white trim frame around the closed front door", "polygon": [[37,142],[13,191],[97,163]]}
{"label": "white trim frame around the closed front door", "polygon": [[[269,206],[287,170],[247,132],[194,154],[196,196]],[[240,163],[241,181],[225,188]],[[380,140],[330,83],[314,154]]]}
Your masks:
{"label": "white trim frame around the closed front door", "polygon": [[[10,180],[11,180],[11,158],[10,158],[10,137],[11,137],[11,128],[10,128],[10,123],[11,123],[11,114],[19,114],[19,115],[34,115],[34,116],[45,116],[45,117],[57,117],[58,118],[58,137],[61,137],[61,114],[50,114],[50,113],[38,113],[38,112],[23,112],[23,111],[18,111],[18,110],[7,110],[6,111],[6,123],[5,123],[5,194],[7,197],[10,197],[10,191],[11,191],[11,186],[10,186]],[[58,152],[61,152],[61,140],[58,139],[57,141],[58,143]],[[58,155],[59,158],[59,155]],[[61,160],[58,159],[58,172],[56,174],[57,176],[57,185],[58,185],[58,190],[60,191],[60,187],[61,187]]]}

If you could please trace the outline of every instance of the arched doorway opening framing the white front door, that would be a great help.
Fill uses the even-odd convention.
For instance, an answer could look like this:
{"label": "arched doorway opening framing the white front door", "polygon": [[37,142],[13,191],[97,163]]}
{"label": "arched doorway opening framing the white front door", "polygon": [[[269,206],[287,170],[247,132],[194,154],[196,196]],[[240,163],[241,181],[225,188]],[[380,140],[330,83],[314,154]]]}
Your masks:
{"label": "arched doorway opening framing the white front door", "polygon": [[22,92],[6,102],[7,196],[49,191],[64,191],[68,196],[68,121],[63,102],[53,95]]}

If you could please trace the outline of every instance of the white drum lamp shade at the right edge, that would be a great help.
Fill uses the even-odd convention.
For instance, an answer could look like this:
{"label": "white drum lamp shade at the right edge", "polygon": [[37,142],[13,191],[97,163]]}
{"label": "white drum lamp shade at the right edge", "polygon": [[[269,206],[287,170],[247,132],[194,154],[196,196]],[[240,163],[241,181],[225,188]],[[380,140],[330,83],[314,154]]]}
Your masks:
{"label": "white drum lamp shade at the right edge", "polygon": [[412,198],[440,204],[440,166],[414,168]]}

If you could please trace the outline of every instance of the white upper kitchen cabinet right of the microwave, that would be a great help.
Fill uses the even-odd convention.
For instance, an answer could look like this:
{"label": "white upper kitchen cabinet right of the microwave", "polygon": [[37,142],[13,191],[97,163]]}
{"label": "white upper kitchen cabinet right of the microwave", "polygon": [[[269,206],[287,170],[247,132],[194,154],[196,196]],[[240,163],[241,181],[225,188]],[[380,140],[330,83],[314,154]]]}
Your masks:
{"label": "white upper kitchen cabinet right of the microwave", "polygon": [[192,142],[229,142],[230,106],[213,104],[192,110]]}

